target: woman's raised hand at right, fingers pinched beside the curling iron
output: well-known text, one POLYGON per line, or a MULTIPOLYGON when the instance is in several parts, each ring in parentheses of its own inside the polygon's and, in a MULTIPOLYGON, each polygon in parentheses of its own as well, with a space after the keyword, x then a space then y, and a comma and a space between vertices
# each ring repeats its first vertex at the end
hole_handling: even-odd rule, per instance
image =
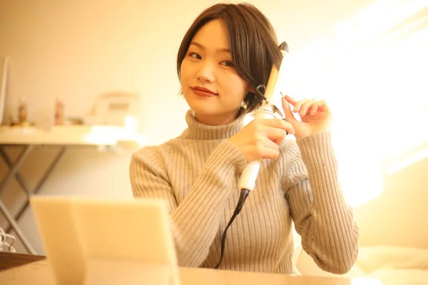
POLYGON ((325 100, 304 99, 295 100, 289 95, 282 98, 282 108, 284 108, 285 119, 295 129, 296 138, 304 138, 315 133, 325 133, 332 125, 332 113, 325 103, 325 100), (293 106, 291 110, 290 105, 293 106), (297 120, 294 113, 299 113, 300 120, 297 120))

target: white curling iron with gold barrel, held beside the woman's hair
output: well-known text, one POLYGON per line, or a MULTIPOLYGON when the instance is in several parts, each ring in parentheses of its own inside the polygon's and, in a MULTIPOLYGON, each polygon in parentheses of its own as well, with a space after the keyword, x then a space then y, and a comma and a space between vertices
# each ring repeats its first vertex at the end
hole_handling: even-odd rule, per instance
MULTIPOLYGON (((278 70, 275 67, 275 64, 272 65, 272 71, 270 71, 269 81, 267 81, 267 86, 265 88, 265 98, 263 100, 262 106, 255 112, 255 119, 284 118, 280 109, 274 103, 272 103, 273 101, 275 101, 275 99, 282 97, 282 95, 280 94, 280 80, 278 79, 281 78, 281 73, 283 72, 285 66, 283 58, 288 54, 288 46, 285 41, 280 44, 280 50, 282 53, 280 69, 278 70)), ((278 100, 276 101, 278 102, 278 100)), ((261 162, 262 160, 255 160, 253 162, 248 163, 248 165, 245 167, 240 176, 240 190, 254 190, 255 181, 257 180, 258 173, 260 171, 261 162)))

